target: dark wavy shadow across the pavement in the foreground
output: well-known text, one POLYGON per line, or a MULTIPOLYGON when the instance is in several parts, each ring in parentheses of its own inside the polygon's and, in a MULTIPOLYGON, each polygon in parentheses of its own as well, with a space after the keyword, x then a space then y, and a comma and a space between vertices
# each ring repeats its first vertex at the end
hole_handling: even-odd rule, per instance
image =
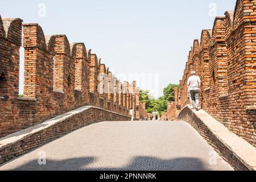
MULTIPOLYGON (((38 160, 13 168, 15 171, 207 171, 200 159, 176 158, 161 160, 147 156, 136 156, 130 164, 119 168, 87 167, 96 162, 96 158, 72 158, 67 160, 47 160, 46 165, 39 165, 38 160)), ((109 162, 113 164, 114 162, 109 162)), ((93 166, 93 165, 92 165, 93 166)))

